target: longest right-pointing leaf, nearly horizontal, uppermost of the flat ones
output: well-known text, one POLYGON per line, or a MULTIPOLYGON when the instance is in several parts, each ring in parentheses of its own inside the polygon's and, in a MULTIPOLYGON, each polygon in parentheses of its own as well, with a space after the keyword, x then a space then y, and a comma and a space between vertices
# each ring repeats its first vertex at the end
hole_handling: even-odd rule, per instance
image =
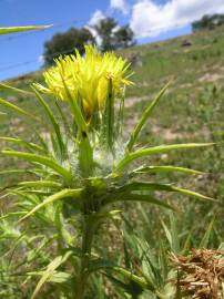
POLYGON ((123 169, 132 162, 141 157, 151 156, 155 154, 167 153, 175 150, 191 150, 197 147, 205 147, 214 145, 214 143, 186 143, 186 144, 172 144, 160 145, 149 148, 139 150, 136 152, 126 154, 123 159, 120 161, 114 172, 123 172, 123 169))

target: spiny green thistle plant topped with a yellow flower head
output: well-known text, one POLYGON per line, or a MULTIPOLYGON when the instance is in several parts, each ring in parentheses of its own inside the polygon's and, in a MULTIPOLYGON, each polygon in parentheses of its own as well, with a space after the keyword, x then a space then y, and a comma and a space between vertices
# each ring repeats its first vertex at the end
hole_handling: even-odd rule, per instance
MULTIPOLYGON (((147 202, 173 209, 164 199, 156 198, 157 192, 207 198, 171 184, 141 179, 142 174, 160 172, 198 174, 184 167, 151 165, 144 158, 210 144, 138 146, 140 134, 169 84, 149 103, 130 137, 124 140, 124 95, 125 89, 133 84, 131 74, 126 60, 114 53, 101 54, 94 47, 86 45, 84 56, 75 51, 73 55, 55 60, 55 65, 43 73, 45 84, 33 84, 30 92, 3 85, 12 92, 34 94, 48 122, 43 126, 41 115, 0 99, 2 106, 24 118, 29 124, 27 130, 33 122, 40 122, 41 128, 34 132, 33 142, 14 136, 0 137, 9 144, 1 151, 3 158, 28 163, 22 171, 24 177, 20 176, 21 181, 19 177, 17 184, 3 189, 4 196, 14 198, 16 209, 3 217, 19 217, 18 229, 29 231, 32 227, 28 234, 35 231, 42 240, 51 235, 49 248, 57 251, 51 260, 49 255, 48 259, 44 255, 41 257, 39 272, 24 274, 29 278, 41 276, 32 299, 38 298, 42 286, 50 281, 61 283, 62 293, 63 286, 69 283, 65 298, 84 298, 90 276, 102 269, 136 279, 151 289, 144 277, 135 277, 98 256, 94 237, 100 224, 118 217, 122 213, 122 202, 147 202), (54 107, 47 97, 53 99, 54 107)), ((21 173, 21 169, 4 169, 3 173, 21 173)))

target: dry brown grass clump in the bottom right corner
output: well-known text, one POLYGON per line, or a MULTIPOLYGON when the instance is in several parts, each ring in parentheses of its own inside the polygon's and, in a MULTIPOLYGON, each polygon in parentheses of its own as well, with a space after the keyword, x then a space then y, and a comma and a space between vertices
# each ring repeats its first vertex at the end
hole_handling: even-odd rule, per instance
POLYGON ((174 282, 184 295, 192 299, 224 298, 224 250, 192 249, 187 257, 172 254, 171 260, 180 272, 174 282))

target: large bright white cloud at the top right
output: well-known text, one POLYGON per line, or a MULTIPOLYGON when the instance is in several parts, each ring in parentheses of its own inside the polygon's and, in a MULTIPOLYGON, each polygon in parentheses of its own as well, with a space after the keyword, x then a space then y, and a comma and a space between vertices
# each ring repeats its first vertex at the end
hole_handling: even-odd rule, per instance
POLYGON ((130 25, 138 38, 155 37, 190 24, 204 14, 223 12, 223 0, 170 0, 164 4, 139 0, 133 4, 130 25))

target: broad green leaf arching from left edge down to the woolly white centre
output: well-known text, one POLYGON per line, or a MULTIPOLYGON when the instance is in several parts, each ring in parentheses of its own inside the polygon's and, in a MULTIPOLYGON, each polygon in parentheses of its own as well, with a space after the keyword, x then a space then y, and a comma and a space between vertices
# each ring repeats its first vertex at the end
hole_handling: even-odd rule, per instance
POLYGON ((71 172, 63 168, 53 158, 45 157, 42 155, 35 155, 31 153, 17 152, 17 151, 1 151, 1 154, 6 156, 22 158, 30 163, 39 163, 41 165, 48 166, 49 168, 53 169, 55 173, 62 175, 65 181, 68 182, 72 181, 71 172))

